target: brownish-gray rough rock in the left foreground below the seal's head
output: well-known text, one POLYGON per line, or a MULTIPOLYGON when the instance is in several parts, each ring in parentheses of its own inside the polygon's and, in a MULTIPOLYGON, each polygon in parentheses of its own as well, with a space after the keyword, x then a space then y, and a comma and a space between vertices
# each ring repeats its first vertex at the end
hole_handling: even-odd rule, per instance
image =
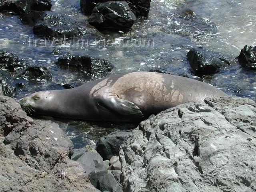
POLYGON ((18 102, 0 96, 0 189, 98 192, 59 126, 26 116, 18 102))

